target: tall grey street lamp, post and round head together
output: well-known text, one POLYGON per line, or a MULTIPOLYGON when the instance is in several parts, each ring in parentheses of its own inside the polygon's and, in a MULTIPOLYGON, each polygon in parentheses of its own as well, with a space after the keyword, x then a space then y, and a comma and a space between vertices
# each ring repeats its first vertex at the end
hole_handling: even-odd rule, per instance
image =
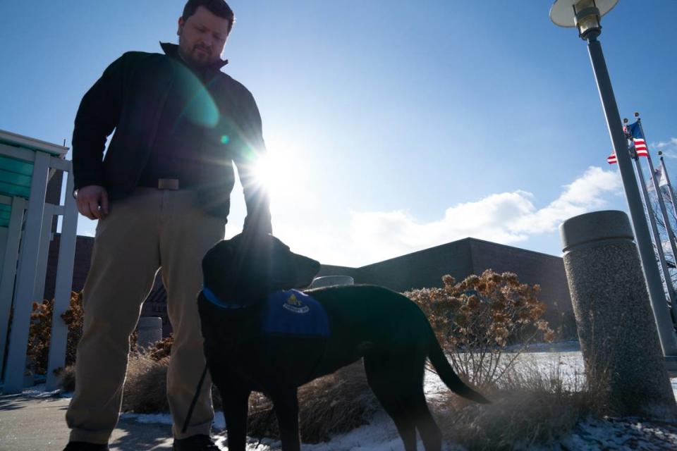
POLYGON ((606 117, 606 126, 609 128, 611 143, 614 146, 614 152, 616 152, 618 169, 621 171, 621 180, 623 180, 630 218, 635 231, 635 242, 647 281, 649 299, 651 299, 661 347, 664 356, 675 357, 677 356, 677 338, 670 319, 661 276, 658 272, 656 256, 644 216, 644 206, 642 206, 642 199, 640 198, 640 190, 633 171, 633 163, 628 153, 628 143, 621 125, 621 116, 618 114, 614 90, 611 88, 609 71, 606 69, 602 45, 597 40, 602 32, 600 19, 604 14, 611 11, 611 8, 614 8, 617 3, 618 0, 556 0, 550 9, 550 18, 555 25, 577 27, 580 38, 588 43, 590 62, 592 63, 594 78, 597 81, 599 98, 602 101, 604 116, 606 117))

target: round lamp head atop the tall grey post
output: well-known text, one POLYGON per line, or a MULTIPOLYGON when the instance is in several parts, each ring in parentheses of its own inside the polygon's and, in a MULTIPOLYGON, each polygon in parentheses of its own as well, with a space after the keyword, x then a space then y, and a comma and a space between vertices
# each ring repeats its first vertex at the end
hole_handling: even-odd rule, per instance
POLYGON ((577 27, 581 39, 599 36, 601 19, 618 0, 556 0, 550 8, 550 20, 560 27, 577 27))

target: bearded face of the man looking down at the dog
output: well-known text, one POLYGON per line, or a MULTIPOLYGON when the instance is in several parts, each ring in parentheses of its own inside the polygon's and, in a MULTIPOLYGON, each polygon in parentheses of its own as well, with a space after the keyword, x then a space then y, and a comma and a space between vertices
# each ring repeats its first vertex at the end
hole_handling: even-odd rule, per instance
POLYGON ((186 63, 209 66, 221 59, 228 37, 228 19, 198 6, 188 20, 178 19, 178 51, 186 63))

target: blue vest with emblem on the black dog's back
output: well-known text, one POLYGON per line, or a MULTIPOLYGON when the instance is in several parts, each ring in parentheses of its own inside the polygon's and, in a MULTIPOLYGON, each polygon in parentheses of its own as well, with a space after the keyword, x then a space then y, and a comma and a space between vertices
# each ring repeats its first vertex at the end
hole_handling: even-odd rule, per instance
POLYGON ((263 309, 262 333, 329 336, 327 312, 317 300, 298 290, 269 295, 263 309))

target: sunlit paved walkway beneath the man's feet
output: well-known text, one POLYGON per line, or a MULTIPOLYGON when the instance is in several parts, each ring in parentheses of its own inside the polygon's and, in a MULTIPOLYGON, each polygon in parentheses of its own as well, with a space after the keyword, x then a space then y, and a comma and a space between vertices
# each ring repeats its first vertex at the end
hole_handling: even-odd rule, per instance
MULTIPOLYGON (((54 396, 0 395, 0 451, 63 450, 68 443, 65 416, 70 401, 54 396)), ((171 443, 170 426, 123 418, 113 432, 110 448, 160 451, 171 450, 171 443)))

